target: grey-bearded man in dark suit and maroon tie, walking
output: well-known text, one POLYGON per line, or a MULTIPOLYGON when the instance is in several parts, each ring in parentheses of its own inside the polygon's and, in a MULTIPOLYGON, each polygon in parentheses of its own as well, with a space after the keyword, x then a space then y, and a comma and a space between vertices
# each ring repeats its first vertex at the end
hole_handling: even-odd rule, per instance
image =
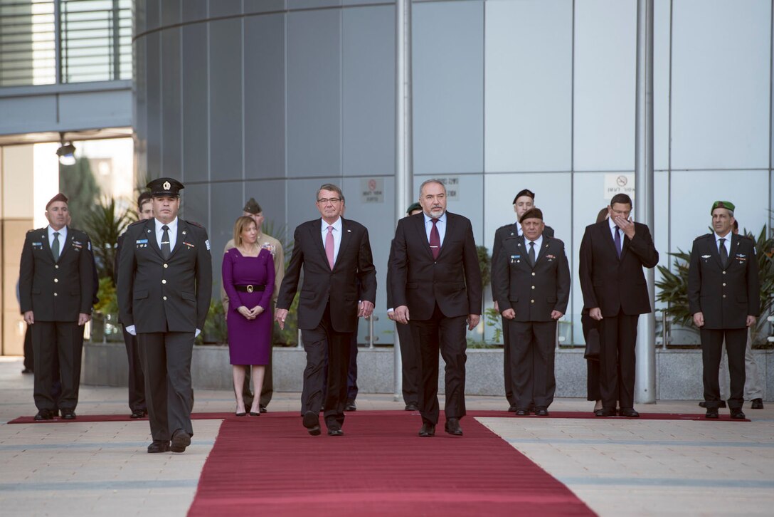
POLYGON ((437 180, 420 187, 423 213, 398 222, 389 263, 396 321, 410 321, 420 346, 420 436, 438 422, 438 351, 446 362, 447 433, 461 436, 465 415, 465 322, 481 319, 481 270, 469 219, 446 211, 446 188, 437 180))

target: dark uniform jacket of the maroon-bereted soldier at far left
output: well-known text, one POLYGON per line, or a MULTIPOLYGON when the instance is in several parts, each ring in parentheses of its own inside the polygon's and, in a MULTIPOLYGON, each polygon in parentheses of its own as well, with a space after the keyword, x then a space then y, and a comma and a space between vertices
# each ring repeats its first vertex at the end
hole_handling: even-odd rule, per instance
POLYGON ((94 259, 85 232, 67 227, 67 239, 53 261, 48 226, 27 232, 19 267, 22 313, 33 311, 36 321, 77 322, 91 314, 94 297, 94 259))

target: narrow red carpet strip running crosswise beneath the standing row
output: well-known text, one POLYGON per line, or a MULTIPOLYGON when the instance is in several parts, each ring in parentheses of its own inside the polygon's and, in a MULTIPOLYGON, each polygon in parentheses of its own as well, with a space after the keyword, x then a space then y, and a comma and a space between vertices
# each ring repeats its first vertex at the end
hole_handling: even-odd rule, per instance
MULTIPOLYGON (((704 411, 704 410, 702 410, 704 411)), ((399 411, 396 411, 399 412, 399 411)), ((358 415, 362 414, 372 415, 375 412, 358 412, 358 415)), ((387 412, 392 413, 392 412, 387 412)), ((402 413, 402 412, 399 412, 402 413)), ((287 413, 267 413, 267 415, 285 415, 287 413)), ((296 413, 293 413, 296 414, 296 413)), ((348 413, 349 415, 350 413, 348 413)), ((409 413, 410 414, 410 413, 409 413)), ((468 411, 468 416, 486 416, 486 417, 500 417, 500 418, 518 418, 518 419, 597 419, 590 411, 552 411, 550 416, 515 416, 513 413, 505 411, 468 411)), ((264 415, 265 416, 265 415, 264 415)), ((217 419, 237 419, 234 413, 193 413, 191 418, 194 420, 217 420, 217 419)), ((248 418, 248 417, 243 417, 248 418)), ((611 417, 615 420, 637 420, 627 419, 624 416, 611 417)), ((51 423, 70 423, 70 422, 129 422, 133 419, 129 418, 129 415, 83 415, 78 414, 78 418, 75 420, 63 420, 61 417, 57 417, 53 420, 41 420, 37 421, 33 419, 33 416, 20 416, 18 419, 13 419, 9 424, 51 424, 51 423)), ((137 419, 140 422, 147 421, 148 418, 137 419)), ((241 419, 239 419, 241 420, 241 419)), ((600 422, 604 422, 603 419, 598 419, 600 422)), ((701 413, 640 413, 639 420, 696 420, 697 422, 750 422, 749 419, 745 420, 731 420, 731 415, 728 412, 722 412, 720 418, 717 420, 708 420, 704 418, 704 412, 701 413)), ((421 425, 421 424, 420 424, 421 425)))

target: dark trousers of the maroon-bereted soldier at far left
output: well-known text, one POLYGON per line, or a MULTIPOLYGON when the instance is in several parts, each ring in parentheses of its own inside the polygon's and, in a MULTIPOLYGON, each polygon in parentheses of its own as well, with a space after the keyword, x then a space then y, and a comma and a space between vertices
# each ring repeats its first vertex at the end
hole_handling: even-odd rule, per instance
POLYGON ((78 405, 84 327, 77 322, 37 321, 32 328, 36 407, 54 411, 58 404, 60 409, 74 410, 78 405), (57 373, 62 385, 58 402, 53 395, 57 373))

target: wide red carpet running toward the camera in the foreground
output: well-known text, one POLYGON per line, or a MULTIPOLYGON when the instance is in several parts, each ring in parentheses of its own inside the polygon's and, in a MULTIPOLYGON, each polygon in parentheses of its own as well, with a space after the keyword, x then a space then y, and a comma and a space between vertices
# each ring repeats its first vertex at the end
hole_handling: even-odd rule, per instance
MULTIPOLYGON (((500 413, 500 412, 498 412, 500 413)), ((298 415, 226 419, 189 515, 594 515, 472 418, 465 436, 416 436, 408 412, 349 413, 344 436, 298 415)))

